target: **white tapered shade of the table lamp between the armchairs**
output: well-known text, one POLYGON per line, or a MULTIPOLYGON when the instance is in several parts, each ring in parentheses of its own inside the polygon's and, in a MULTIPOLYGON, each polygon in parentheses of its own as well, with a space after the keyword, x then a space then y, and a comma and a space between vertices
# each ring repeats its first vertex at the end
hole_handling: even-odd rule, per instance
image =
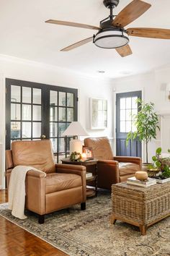
POLYGON ((89 136, 79 121, 72 121, 69 127, 63 132, 63 136, 89 136))

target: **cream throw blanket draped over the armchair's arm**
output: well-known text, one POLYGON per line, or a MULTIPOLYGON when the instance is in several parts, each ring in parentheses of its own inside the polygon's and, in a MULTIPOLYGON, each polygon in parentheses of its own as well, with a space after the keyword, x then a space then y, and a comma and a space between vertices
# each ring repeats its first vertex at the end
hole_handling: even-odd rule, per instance
MULTIPOLYGON (((14 217, 24 219, 25 202, 25 177, 27 171, 40 171, 31 166, 16 166, 13 168, 9 179, 9 210, 14 217)), ((40 171, 42 172, 42 171, 40 171)), ((44 174, 44 172, 42 172, 44 174)))

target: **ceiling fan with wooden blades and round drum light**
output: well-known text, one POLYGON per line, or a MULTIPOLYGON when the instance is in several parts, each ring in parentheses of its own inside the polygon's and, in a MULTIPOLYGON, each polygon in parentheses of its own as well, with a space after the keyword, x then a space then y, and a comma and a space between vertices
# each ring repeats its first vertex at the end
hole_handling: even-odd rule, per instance
POLYGON ((142 38, 161 38, 170 39, 170 30, 150 27, 133 27, 125 29, 125 26, 138 19, 144 12, 146 12, 151 4, 145 1, 133 0, 122 11, 114 15, 113 9, 117 7, 120 0, 104 0, 103 4, 109 8, 109 17, 100 22, 99 27, 93 25, 86 25, 75 22, 66 22, 61 20, 47 20, 45 22, 65 25, 71 27, 82 27, 91 30, 99 30, 96 35, 86 38, 71 46, 61 49, 61 51, 70 51, 73 48, 83 46, 85 43, 93 41, 93 43, 100 48, 115 48, 120 56, 125 57, 132 54, 129 43, 129 35, 142 38))

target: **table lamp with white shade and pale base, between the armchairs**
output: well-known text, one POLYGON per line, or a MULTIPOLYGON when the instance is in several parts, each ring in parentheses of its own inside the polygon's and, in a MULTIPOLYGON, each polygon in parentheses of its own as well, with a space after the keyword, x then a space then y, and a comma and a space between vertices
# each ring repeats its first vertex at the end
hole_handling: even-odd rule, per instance
POLYGON ((78 136, 89 136, 79 121, 72 121, 69 127, 63 132, 63 136, 73 136, 70 141, 70 154, 72 152, 82 153, 82 143, 78 140, 78 136))

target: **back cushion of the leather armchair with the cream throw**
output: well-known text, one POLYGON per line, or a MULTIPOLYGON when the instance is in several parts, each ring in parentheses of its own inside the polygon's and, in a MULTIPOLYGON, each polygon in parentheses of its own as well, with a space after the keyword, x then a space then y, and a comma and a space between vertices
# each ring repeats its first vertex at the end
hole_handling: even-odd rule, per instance
POLYGON ((32 166, 45 173, 55 172, 50 140, 18 140, 12 142, 14 166, 32 166))

